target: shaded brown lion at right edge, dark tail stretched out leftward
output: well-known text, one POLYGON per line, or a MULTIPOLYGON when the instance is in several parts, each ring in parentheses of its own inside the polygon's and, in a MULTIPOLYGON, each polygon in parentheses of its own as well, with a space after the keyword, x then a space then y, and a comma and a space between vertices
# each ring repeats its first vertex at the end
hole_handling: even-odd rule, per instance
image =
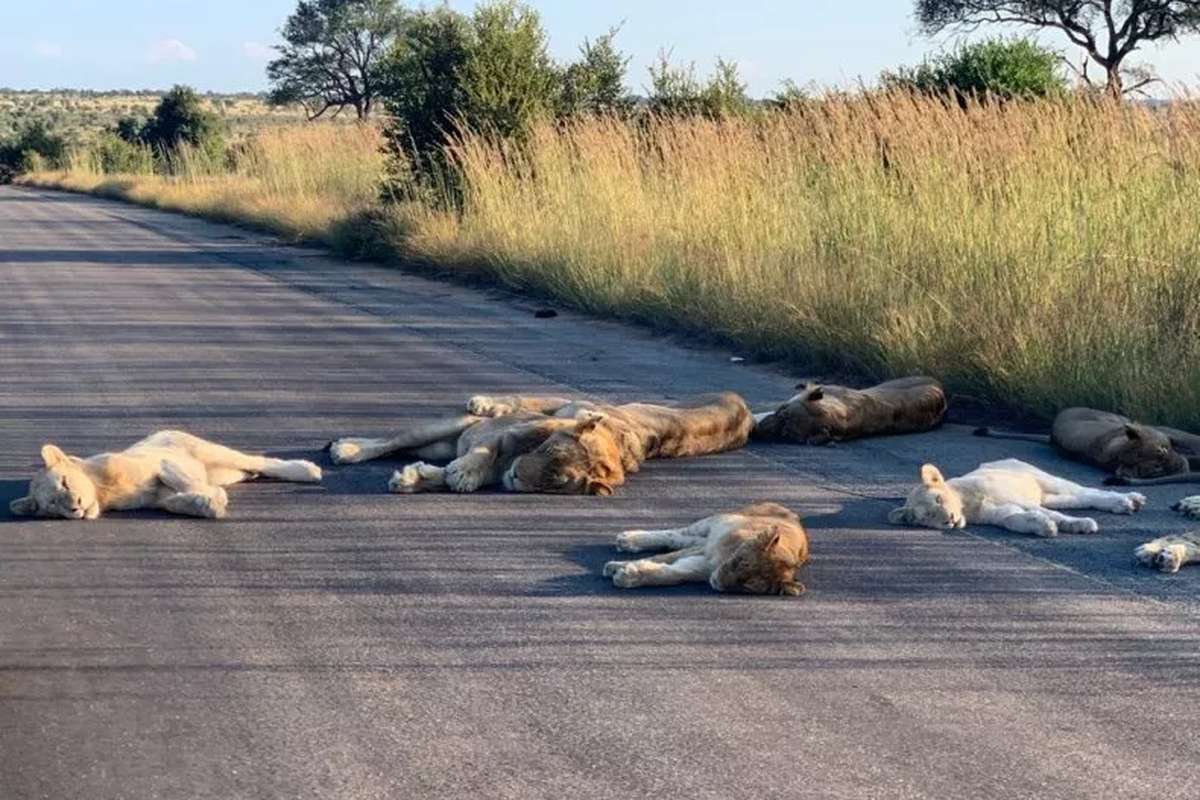
POLYGON ((1068 458, 1112 474, 1110 483, 1148 486, 1200 482, 1200 437, 1163 426, 1141 425, 1127 416, 1091 408, 1058 413, 1050 435, 997 433, 976 435, 1049 441, 1068 458), (1196 458, 1195 463, 1190 459, 1196 458))

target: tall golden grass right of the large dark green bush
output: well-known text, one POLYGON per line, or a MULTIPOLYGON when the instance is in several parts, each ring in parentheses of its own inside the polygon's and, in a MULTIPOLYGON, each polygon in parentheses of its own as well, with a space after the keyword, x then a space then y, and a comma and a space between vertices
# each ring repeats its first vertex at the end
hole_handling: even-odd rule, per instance
POLYGON ((1193 104, 832 100, 456 155, 426 257, 821 368, 1200 425, 1193 104))

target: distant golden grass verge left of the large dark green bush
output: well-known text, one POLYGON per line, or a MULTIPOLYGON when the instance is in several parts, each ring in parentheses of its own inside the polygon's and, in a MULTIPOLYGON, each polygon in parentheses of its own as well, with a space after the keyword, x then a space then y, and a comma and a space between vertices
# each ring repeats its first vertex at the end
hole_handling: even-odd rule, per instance
POLYGON ((220 161, 184 148, 170 155, 167 174, 155 174, 146 160, 140 174, 108 175, 95 152, 80 150, 67 170, 36 173, 25 182, 329 241, 348 219, 376 205, 380 144, 379 131, 368 126, 281 127, 246 139, 220 161))

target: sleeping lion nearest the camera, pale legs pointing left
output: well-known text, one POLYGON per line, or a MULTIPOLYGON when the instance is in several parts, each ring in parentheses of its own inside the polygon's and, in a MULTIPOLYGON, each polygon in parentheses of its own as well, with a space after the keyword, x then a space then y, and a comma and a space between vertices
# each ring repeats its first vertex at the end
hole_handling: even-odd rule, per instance
POLYGON ((622 589, 708 584, 716 591, 800 595, 796 571, 809 560, 809 537, 798 515, 778 503, 757 503, 684 528, 626 530, 617 549, 670 549, 636 561, 608 561, 605 577, 622 589))

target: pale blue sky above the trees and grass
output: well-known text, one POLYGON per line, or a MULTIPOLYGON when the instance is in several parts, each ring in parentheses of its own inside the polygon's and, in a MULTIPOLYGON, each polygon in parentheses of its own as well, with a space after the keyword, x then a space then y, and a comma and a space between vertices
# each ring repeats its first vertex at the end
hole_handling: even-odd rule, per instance
MULTIPOLYGON (((295 0, 56 0, 5 2, 0 86, 150 88, 257 91, 277 31, 295 0)), ((470 0, 451 5, 469 11, 470 0)), ((624 23, 618 44, 634 56, 629 84, 646 85, 660 48, 707 72, 718 55, 737 61, 751 94, 799 84, 848 85, 919 61, 952 40, 930 42, 910 0, 533 0, 556 58, 584 37, 624 23)), ((1055 37, 1048 43, 1060 46, 1055 37)), ((1200 37, 1135 54, 1171 82, 1200 86, 1200 37)), ((1094 73, 1093 73, 1094 74, 1094 73)))

